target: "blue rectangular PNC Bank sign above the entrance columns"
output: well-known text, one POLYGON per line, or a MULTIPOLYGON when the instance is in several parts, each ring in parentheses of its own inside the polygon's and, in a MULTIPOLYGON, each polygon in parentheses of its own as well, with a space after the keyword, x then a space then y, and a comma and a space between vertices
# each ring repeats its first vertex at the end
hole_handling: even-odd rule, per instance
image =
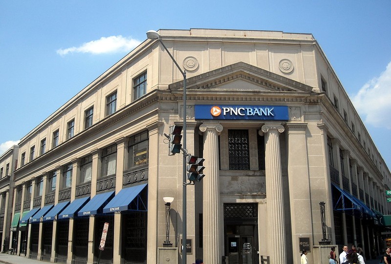
POLYGON ((279 105, 195 105, 195 119, 289 120, 288 106, 279 105))

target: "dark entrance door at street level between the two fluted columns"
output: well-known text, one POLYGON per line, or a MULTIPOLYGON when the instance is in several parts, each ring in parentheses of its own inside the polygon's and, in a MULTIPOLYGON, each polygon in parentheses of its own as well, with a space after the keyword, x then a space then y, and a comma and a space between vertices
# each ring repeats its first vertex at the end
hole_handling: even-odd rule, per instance
POLYGON ((229 235, 227 247, 229 264, 253 264, 252 236, 229 235))

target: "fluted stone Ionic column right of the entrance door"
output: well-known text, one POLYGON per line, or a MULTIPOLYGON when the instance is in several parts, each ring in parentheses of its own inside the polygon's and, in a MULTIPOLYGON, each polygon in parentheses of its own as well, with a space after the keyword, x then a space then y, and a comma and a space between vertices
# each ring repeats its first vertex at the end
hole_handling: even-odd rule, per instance
POLYGON ((265 123, 265 173, 266 173, 266 210, 267 241, 270 263, 286 264, 286 255, 282 248, 285 244, 285 224, 282 201, 282 168, 280 153, 280 133, 284 127, 279 123, 265 123))

